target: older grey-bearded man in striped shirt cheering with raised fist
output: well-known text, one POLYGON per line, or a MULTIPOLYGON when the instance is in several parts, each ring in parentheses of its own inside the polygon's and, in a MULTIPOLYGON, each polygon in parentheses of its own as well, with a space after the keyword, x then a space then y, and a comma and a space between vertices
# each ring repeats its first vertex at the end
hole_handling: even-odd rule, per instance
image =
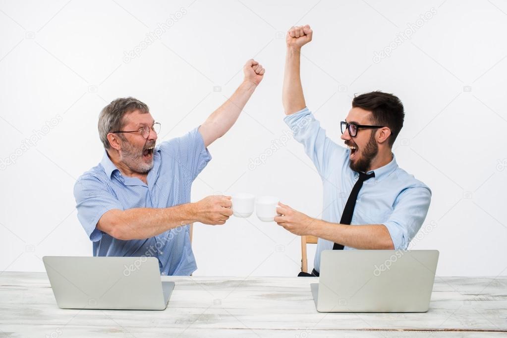
POLYGON ((146 104, 119 98, 102 109, 102 161, 74 188, 94 256, 157 257, 163 275, 197 269, 188 224, 224 224, 232 215, 231 198, 208 196, 190 203, 190 190, 211 159, 207 146, 236 122, 265 70, 249 60, 243 72, 243 83, 202 125, 159 146, 160 124, 146 104))

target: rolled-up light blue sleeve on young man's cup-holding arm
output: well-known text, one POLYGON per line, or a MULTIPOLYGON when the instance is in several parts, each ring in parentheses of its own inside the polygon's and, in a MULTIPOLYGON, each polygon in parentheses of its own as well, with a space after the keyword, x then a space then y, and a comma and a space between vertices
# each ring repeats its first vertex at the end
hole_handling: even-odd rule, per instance
POLYGON ((383 224, 395 250, 406 250, 428 213, 431 191, 427 187, 405 189, 396 199, 394 210, 383 224))

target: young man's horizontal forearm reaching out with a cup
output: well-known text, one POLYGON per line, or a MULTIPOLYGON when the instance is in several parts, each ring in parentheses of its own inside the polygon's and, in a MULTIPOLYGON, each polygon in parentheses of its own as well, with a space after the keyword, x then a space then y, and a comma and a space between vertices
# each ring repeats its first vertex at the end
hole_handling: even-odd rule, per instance
POLYGON ((310 235, 355 249, 394 249, 389 231, 383 224, 349 226, 314 219, 310 235))

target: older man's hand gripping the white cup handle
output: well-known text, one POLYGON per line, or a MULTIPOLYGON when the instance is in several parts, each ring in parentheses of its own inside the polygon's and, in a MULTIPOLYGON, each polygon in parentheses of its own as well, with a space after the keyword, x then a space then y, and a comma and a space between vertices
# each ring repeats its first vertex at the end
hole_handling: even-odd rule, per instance
POLYGON ((232 215, 230 196, 208 196, 195 203, 196 219, 204 224, 224 224, 232 215))

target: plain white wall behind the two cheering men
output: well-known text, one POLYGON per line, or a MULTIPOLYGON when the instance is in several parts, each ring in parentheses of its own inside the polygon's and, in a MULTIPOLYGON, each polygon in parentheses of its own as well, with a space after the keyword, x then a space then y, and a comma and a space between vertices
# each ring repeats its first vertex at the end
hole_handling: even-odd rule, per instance
MULTIPOLYGON (((379 89, 405 104, 394 153, 433 191, 412 248, 439 249, 441 276, 507 275, 507 3, 499 0, 1 2, 0 271, 43 271, 44 255, 91 255, 73 185, 101 159, 105 104, 135 96, 161 122, 160 140, 179 136, 235 90, 251 57, 265 79, 209 147, 213 160, 192 198, 277 195, 318 217, 320 179, 296 141, 248 169, 288 131, 284 35, 306 23, 314 40, 303 51, 305 96, 330 137, 341 143, 338 123, 354 93, 379 89), (182 8, 160 39, 124 58, 182 8), (406 29, 411 38, 396 42, 406 29)), ((299 237, 255 216, 196 224, 194 251, 195 275, 294 276, 301 259, 299 237)))

